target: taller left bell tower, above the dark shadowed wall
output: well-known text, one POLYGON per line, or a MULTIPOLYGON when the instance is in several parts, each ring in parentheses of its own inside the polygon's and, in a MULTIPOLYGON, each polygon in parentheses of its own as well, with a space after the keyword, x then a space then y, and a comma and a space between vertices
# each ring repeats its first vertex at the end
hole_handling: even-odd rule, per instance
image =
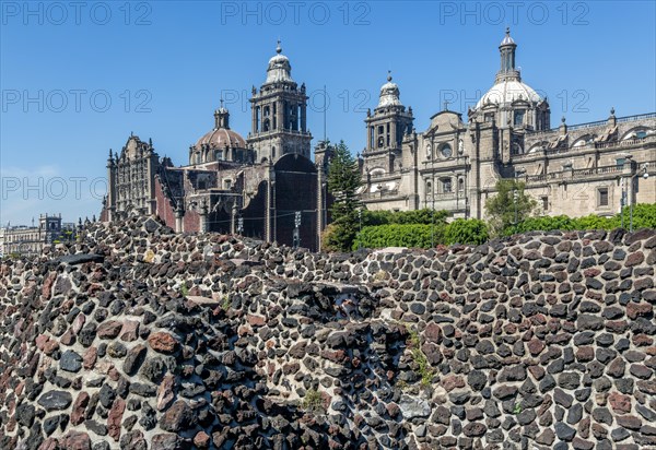
POLYGON ((312 134, 307 130, 307 95, 292 79, 292 66, 282 55, 280 40, 269 60, 267 80, 259 92, 253 86, 251 129, 247 143, 257 163, 276 163, 288 153, 309 158, 312 134))

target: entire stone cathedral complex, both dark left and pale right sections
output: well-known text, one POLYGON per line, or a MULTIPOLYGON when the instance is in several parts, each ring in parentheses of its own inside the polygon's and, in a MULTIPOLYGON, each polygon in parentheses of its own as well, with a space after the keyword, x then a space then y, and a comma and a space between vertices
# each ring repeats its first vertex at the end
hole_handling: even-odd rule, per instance
MULTIPOLYGON (((378 105, 367 111, 359 155, 368 210, 446 210, 452 218, 485 218, 496 182, 526 183, 543 215, 613 215, 622 205, 656 203, 656 112, 551 128, 547 98, 522 79, 517 44, 506 31, 492 87, 462 114, 445 107, 426 130, 414 128, 399 86, 388 74, 378 105)), ((177 232, 241 234, 320 248, 330 204, 326 174, 331 149, 311 155, 305 84, 292 79, 280 43, 259 91, 253 87, 251 128, 230 127, 223 103, 213 127, 175 166, 152 142, 130 135, 109 152, 108 192, 101 218, 155 214, 177 232)))

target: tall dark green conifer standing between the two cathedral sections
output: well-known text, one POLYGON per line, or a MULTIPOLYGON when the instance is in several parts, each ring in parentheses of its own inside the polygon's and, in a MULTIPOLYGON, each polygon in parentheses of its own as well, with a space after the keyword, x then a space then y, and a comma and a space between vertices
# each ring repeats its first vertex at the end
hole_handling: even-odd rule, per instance
POLYGON ((326 247, 342 251, 351 249, 359 229, 361 203, 355 191, 361 185, 358 162, 344 141, 340 141, 328 166, 328 191, 335 201, 330 208, 333 229, 327 236, 326 247))

